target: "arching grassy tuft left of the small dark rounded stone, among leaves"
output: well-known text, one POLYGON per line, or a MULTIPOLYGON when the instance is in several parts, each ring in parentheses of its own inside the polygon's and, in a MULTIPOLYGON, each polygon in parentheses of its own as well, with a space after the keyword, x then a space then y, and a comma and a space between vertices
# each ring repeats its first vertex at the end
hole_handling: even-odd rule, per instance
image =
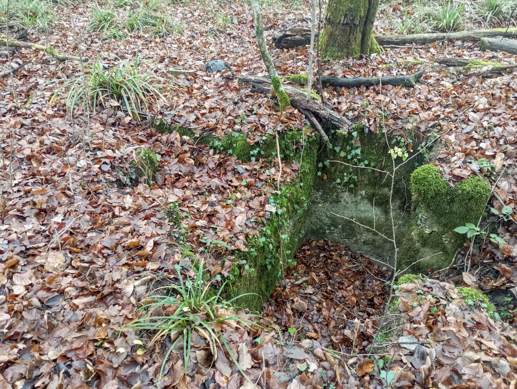
POLYGON ((150 101, 158 103, 159 99, 165 100, 158 90, 162 79, 150 72, 140 73, 140 65, 138 56, 133 63, 122 61, 109 69, 96 60, 93 65, 85 65, 86 85, 82 77, 68 80, 54 92, 49 105, 56 96, 65 97, 67 109, 72 115, 74 107, 82 99, 86 99, 92 110, 98 103, 107 106, 108 101, 114 99, 126 106, 129 115, 134 113, 140 119, 139 108, 148 108, 150 101), (63 93, 64 89, 68 89, 68 92, 63 93))

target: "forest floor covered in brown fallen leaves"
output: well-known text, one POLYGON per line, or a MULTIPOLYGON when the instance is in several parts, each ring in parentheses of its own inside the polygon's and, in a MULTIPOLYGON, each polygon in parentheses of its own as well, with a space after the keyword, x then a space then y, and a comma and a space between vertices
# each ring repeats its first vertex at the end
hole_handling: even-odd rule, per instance
MULTIPOLYGON (((120 110, 123 101, 112 96, 89 106, 80 90, 84 74, 111 71, 124 82, 162 84, 159 96, 152 90, 146 96, 153 115, 196 135, 208 131, 221 139, 238 131, 250 145, 274 130, 301 128, 307 121, 297 110, 279 113, 270 97, 238 85, 238 75, 267 75, 250 5, 34 0, 12 1, 7 13, 8 4, 0 4, 2 37, 8 30, 9 38, 51 45, 87 62, 61 63, 31 49, 0 55, 2 73, 25 64, 0 81, 0 388, 515 387, 512 298, 496 307, 481 292, 456 286, 493 292, 517 281, 511 221, 517 220, 517 68, 482 78, 425 62, 461 57, 514 65, 515 55, 452 41, 322 64, 322 74, 341 77, 424 70, 415 88, 329 87, 323 95, 368 131, 399 136, 405 149, 412 147, 406 132, 440 134, 437 168, 451 186, 480 175, 494 188, 500 200, 491 198, 495 212, 486 223, 499 223, 497 235, 506 244, 487 240, 476 247, 468 272, 461 271, 465 246, 456 267, 391 285, 391 272, 370 259, 331 242, 306 242, 262 318, 214 307, 220 319, 208 328, 220 334, 218 342, 209 329, 185 326, 190 352, 184 361, 183 348, 165 356, 179 334, 153 343, 127 324, 139 317, 151 291, 195 277, 194 254, 178 244, 180 227, 189 229, 191 251, 205 249, 197 260, 214 285, 231 276, 234 263, 221 261, 223 254, 245 249, 256 221, 271 217, 278 161, 242 163, 217 142, 200 145, 175 131, 156 131, 145 115, 139 120, 120 110), (215 58, 230 69, 205 72, 215 58), (171 75, 178 69, 192 72, 171 75), (153 182, 135 173, 142 155, 156 157, 153 182), (178 209, 169 207, 178 202, 178 209)), ((271 26, 268 44, 273 34, 309 25, 306 3, 262 6, 263 24, 271 26)), ((424 8, 383 3, 374 32, 437 28, 436 7, 424 8)), ((486 12, 469 8, 462 28, 506 26, 508 9, 505 3, 503 13, 483 18, 486 12)), ((279 51, 271 45, 270 51, 280 75, 307 73, 306 46, 279 51)), ((137 108, 146 112, 142 104, 137 108)), ((280 181, 299 169, 284 162, 280 181)), ((244 263, 239 266, 244 271, 244 263)), ((160 312, 173 315, 167 308, 160 312)))

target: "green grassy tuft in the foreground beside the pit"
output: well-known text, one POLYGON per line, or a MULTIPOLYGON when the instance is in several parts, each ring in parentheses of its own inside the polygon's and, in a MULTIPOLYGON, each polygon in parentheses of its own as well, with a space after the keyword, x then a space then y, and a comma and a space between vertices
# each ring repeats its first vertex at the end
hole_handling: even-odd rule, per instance
POLYGON ((153 302, 141 308, 142 316, 128 324, 129 328, 136 331, 155 332, 150 341, 151 345, 168 335, 171 337, 172 345, 163 359, 158 376, 158 387, 160 387, 160 379, 163 375, 165 364, 175 348, 183 348, 184 374, 187 374, 193 332, 207 339, 214 359, 217 355, 217 348, 223 349, 224 347, 237 365, 237 368, 244 375, 221 331, 214 330, 212 324, 224 323, 227 320, 237 320, 240 325, 256 325, 263 328, 260 324, 251 321, 254 318, 260 318, 260 316, 249 313, 237 314, 235 313, 235 307, 230 305, 236 299, 254 293, 241 294, 230 301, 219 303, 218 300, 221 297, 221 291, 225 283, 219 288, 217 294, 212 293, 209 289, 210 284, 204 285, 203 282, 203 261, 200 262, 195 278, 187 277, 185 282, 183 276, 181 276, 181 267, 176 265, 174 268, 178 272, 179 285, 159 288, 169 290, 168 294, 170 295, 153 295, 151 297, 153 302), (212 296, 210 297, 210 295, 212 296), (183 344, 183 347, 180 346, 181 344, 183 344))

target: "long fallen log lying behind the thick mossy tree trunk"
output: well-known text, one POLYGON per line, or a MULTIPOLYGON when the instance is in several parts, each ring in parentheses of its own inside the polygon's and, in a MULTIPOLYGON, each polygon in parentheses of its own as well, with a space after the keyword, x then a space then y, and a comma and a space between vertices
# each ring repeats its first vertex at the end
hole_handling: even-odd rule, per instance
MULTIPOLYGON (((391 35, 375 35, 375 40, 381 46, 386 45, 397 45, 404 46, 406 44, 428 44, 438 41, 445 40, 470 40, 470 41, 479 41, 483 38, 487 40, 489 38, 500 37, 504 34, 505 28, 484 28, 472 31, 459 31, 456 33, 433 33, 433 34, 413 34, 413 35, 400 35, 400 34, 391 34, 391 35)), ((310 29, 307 28, 291 28, 284 33, 277 34, 273 37, 273 42, 275 43, 275 47, 277 49, 293 49, 295 47, 310 44, 311 39, 310 29)), ((509 28, 507 37, 515 37, 517 36, 517 28, 509 28)), ((500 40, 500 38, 499 38, 500 40)), ((511 39, 509 39, 511 40, 511 39)), ((491 42, 490 44, 494 45, 495 42, 491 42)), ((492 50, 488 48, 489 50, 492 50)), ((498 49, 496 50, 504 50, 498 49)), ((505 50, 506 51, 506 50, 505 50)), ((509 53, 509 51, 508 51, 509 53)))

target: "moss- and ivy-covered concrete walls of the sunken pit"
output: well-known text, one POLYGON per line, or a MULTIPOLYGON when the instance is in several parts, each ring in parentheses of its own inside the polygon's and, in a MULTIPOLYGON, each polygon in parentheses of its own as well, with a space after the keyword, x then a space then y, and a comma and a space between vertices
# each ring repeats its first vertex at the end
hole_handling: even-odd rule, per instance
MULTIPOLYGON (((246 137, 237 132, 222 139, 214 135, 196 137, 191 130, 170 127, 163 119, 155 121, 155 128, 177 131, 218 152, 231 153, 243 162, 275 158, 277 154, 272 135, 249 145, 246 137)), ((385 134, 365 134, 361 125, 348 133, 332 130, 332 150, 320 147, 316 135, 306 136, 303 158, 293 146, 300 140, 300 129, 280 136, 282 160, 301 160, 301 168, 299 177, 285 182, 280 194, 270 196, 278 214, 272 215, 260 233, 248 240, 246 251, 232 253, 235 260, 226 293, 254 293, 240 299, 242 306, 258 309, 267 301, 283 269, 293 266, 294 254, 306 239, 344 243, 355 252, 392 264, 390 198, 398 269, 408 267, 407 272, 427 274, 429 267, 446 267, 465 241, 464 235, 453 229, 465 223, 477 224, 490 196, 489 186, 477 177, 451 188, 429 163, 429 152, 422 152, 397 168, 390 196, 391 177, 379 170, 392 172, 390 148, 403 147, 407 139, 388 136, 387 143, 385 134)), ((425 140, 412 140, 414 152, 425 146, 422 142, 425 140)), ((400 157, 395 161, 396 165, 403 162, 400 157)))

